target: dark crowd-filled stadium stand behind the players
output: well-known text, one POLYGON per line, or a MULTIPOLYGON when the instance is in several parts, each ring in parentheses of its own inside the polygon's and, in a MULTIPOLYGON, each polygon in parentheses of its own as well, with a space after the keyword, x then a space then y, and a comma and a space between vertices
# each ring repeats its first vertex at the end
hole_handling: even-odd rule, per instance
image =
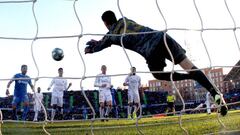
MULTIPOLYGON (((91 104, 93 105, 96 111, 96 117, 98 118, 99 114, 99 104, 98 104, 98 91, 97 90, 86 90, 87 97, 89 98, 91 104)), ((112 94, 114 95, 114 104, 111 111, 111 116, 113 118, 126 118, 127 113, 127 90, 121 89, 112 89, 112 94)), ((51 93, 43 93, 43 104, 47 109, 48 118, 50 118, 51 113, 51 93)), ((166 96, 167 92, 164 91, 144 91, 141 95, 141 104, 143 109, 143 115, 154 115, 164 113, 166 110, 166 96)), ((11 119, 11 101, 12 96, 0 98, 0 107, 3 111, 3 119, 11 119)), ((229 93, 225 93, 224 98, 226 102, 236 102, 240 101, 240 89, 231 90, 229 93)), ((30 112, 27 120, 33 120, 34 111, 33 111, 33 98, 29 94, 30 99, 30 112)), ((199 103, 195 101, 186 102, 186 109, 194 108, 199 103)), ((176 103, 176 111, 181 110, 181 103, 176 103)), ((240 109, 239 105, 229 106, 230 109, 240 109)), ((18 115, 21 115, 23 111, 22 105, 19 105, 18 115)), ((188 113, 188 112, 186 112, 188 113)), ((40 114, 39 120, 43 120, 43 113, 40 114)), ((64 120, 76 120, 76 119, 90 119, 92 118, 92 113, 86 100, 83 97, 81 91, 66 91, 64 93, 64 120)))

